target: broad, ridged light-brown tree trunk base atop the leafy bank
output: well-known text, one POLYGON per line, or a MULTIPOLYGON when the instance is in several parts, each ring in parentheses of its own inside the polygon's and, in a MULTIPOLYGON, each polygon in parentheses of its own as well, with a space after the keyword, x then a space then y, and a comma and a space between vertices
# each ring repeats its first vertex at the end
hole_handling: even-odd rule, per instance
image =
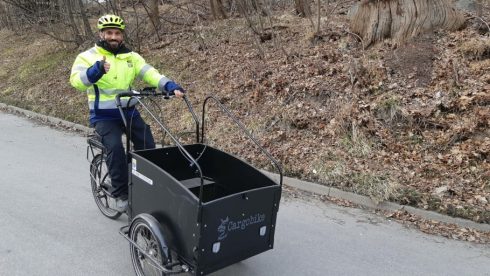
POLYGON ((351 31, 367 47, 386 38, 401 42, 438 28, 463 26, 462 12, 450 0, 363 0, 350 11, 351 31))

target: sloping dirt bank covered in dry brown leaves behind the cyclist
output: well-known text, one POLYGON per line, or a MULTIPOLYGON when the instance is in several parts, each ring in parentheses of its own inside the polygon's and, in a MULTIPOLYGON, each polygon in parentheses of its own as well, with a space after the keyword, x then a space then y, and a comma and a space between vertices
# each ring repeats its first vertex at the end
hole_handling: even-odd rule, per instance
MULTIPOLYGON (((363 50, 347 31, 349 5, 322 19, 319 36, 281 12, 270 39, 231 18, 148 38, 140 53, 184 85, 198 113, 206 95, 220 98, 287 176, 490 223, 488 31, 469 19, 461 31, 363 50)), ((1 102, 87 123, 85 95, 68 83, 84 49, 6 30, 0 49, 1 102)), ((176 132, 192 131, 182 103, 163 110, 176 132)), ((274 171, 216 108, 207 114, 210 144, 274 171)))

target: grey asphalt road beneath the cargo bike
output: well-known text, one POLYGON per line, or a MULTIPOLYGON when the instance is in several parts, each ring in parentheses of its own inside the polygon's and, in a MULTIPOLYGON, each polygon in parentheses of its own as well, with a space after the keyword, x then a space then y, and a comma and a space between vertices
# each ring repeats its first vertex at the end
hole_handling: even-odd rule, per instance
MULTIPOLYGON (((0 112, 0 275, 133 275, 93 202, 85 138, 0 112)), ((285 197, 275 249, 214 275, 490 275, 490 246, 285 197)))

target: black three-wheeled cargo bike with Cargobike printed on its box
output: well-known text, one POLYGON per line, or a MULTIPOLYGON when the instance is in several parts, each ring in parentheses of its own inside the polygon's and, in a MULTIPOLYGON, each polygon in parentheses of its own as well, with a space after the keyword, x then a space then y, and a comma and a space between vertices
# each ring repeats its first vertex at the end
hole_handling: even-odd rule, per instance
MULTIPOLYGON (((168 98, 148 90, 122 93, 116 98, 121 114, 125 106, 137 101, 174 144, 136 151, 126 139, 131 163, 128 225, 120 234, 130 243, 136 274, 206 275, 272 249, 283 178, 279 163, 213 96, 203 103, 203 123, 184 97, 195 122, 196 142, 183 145, 141 101, 159 96, 168 98), (205 144, 204 122, 211 102, 270 159, 279 173, 278 183, 247 162, 205 144)), ((128 126, 128 118, 123 116, 123 121, 128 126)), ((111 208, 112 199, 106 190, 110 176, 104 147, 94 136, 89 137, 88 144, 97 206, 105 216, 118 218, 121 213, 111 208)))

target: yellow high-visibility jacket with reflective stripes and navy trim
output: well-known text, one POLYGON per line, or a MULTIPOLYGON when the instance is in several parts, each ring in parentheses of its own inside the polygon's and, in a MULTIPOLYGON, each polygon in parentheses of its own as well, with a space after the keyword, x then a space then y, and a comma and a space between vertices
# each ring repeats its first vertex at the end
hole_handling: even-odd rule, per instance
MULTIPOLYGON (((70 83, 80 91, 86 91, 88 95, 88 105, 90 109, 90 123, 100 120, 120 119, 121 115, 116 107, 116 95, 127 92, 131 88, 133 81, 142 79, 152 87, 158 87, 165 91, 165 84, 170 81, 165 76, 137 53, 129 49, 123 53, 114 55, 104 48, 95 47, 79 54, 73 63, 70 75, 70 83), (106 57, 111 67, 109 72, 104 74, 96 83, 91 83, 87 78, 87 69, 96 61, 106 57)), ((127 98, 122 98, 122 106, 127 106, 127 98)), ((135 100, 130 102, 133 106, 135 100)))

